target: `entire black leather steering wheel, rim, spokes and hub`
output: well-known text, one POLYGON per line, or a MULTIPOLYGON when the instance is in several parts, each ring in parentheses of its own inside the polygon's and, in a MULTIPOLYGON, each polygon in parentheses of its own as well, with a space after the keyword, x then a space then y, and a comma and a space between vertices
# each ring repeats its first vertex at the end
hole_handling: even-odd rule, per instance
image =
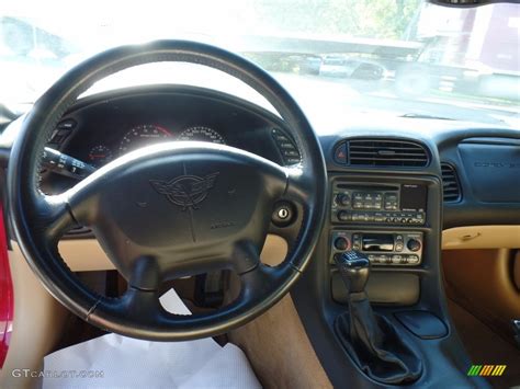
POLYGON ((271 76, 240 56, 186 41, 110 49, 67 72, 25 118, 8 174, 15 237, 49 293, 92 324, 146 340, 212 336, 265 311, 305 270, 325 217, 324 158, 296 102, 271 76), (38 186, 41 157, 67 108, 100 79, 158 61, 208 66, 253 88, 292 130, 302 163, 284 168, 228 146, 168 142, 123 156, 63 194, 45 195, 38 186), (192 188, 189 193, 179 191, 186 185, 192 188), (270 267, 259 256, 273 205, 281 197, 299 203, 302 224, 287 258, 270 267), (226 228, 216 228, 222 220, 226 228), (59 238, 78 225, 94 231, 128 282, 122 297, 93 293, 60 258, 59 238), (218 268, 239 275, 241 290, 235 301, 193 316, 172 314, 161 307, 161 283, 218 268))

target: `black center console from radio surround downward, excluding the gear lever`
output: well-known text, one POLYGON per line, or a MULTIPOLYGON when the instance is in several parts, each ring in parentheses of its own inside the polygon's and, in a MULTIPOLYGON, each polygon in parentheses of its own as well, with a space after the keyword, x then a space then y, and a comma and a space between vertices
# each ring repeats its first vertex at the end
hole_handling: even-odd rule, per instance
MULTIPOLYGON (((434 167, 417 172, 331 172, 329 188, 320 244, 293 298, 331 382, 341 387, 348 377, 352 387, 387 387, 366 374, 360 343, 352 341, 364 330, 352 333, 347 320, 350 310, 357 318, 351 324, 360 325, 359 312, 368 309, 360 311, 352 302, 355 294, 346 287, 338 263, 361 253, 370 263, 364 290, 377 322, 374 327, 373 320, 365 320, 365 330, 395 331, 396 339, 410 346, 422 364, 412 385, 428 385, 433 371, 444 376, 430 385, 466 385, 470 361, 451 328, 442 288, 442 183, 434 167)), ((365 300, 360 304, 368 307, 365 300)), ((371 345, 368 340, 364 347, 371 345)), ((396 344, 383 342, 391 353, 396 344)))

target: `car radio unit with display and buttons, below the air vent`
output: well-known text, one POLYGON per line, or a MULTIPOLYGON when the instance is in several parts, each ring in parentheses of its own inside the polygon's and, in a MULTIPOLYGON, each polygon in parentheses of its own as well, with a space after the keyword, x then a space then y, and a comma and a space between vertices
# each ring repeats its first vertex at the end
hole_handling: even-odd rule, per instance
POLYGON ((332 184, 331 220, 348 224, 426 222, 427 187, 418 184, 332 184))

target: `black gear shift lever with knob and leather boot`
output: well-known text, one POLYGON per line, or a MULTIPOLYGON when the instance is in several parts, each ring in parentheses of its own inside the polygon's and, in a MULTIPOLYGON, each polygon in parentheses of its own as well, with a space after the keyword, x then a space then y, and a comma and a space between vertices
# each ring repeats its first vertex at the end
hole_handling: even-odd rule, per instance
POLYGON ((365 293, 370 261, 348 251, 335 256, 349 295, 349 310, 336 320, 336 331, 359 367, 380 382, 408 384, 421 374, 422 363, 392 322, 375 314, 365 293))

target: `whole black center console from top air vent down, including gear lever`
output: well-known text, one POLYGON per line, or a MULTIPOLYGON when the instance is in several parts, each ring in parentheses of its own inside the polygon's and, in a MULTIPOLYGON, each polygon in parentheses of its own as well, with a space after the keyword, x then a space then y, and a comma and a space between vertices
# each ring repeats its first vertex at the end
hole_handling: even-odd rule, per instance
POLYGON ((385 164, 399 147, 403 158, 418 151, 396 146, 395 138, 344 141, 350 146, 339 149, 347 161, 340 165, 338 139, 324 138, 328 217, 315 258, 291 293, 332 386, 483 386, 466 375, 471 361, 446 309, 436 146, 421 144, 429 161, 419 167, 385 164))

